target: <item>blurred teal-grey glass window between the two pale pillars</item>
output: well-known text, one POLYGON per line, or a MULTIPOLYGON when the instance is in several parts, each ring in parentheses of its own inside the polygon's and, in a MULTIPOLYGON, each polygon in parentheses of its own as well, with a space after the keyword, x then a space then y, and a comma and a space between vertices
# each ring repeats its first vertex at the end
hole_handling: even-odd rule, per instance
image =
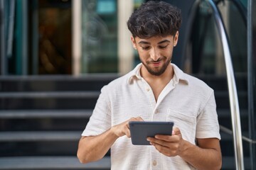
POLYGON ((82 1, 82 73, 117 72, 117 1, 82 1))

